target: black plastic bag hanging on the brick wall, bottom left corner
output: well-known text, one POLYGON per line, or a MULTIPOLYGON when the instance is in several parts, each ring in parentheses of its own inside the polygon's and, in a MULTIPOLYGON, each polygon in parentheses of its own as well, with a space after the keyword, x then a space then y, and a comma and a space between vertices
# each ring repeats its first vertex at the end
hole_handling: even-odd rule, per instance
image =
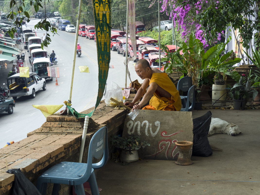
POLYGON ((20 169, 8 169, 6 173, 15 174, 12 195, 41 195, 35 185, 25 177, 20 169))

